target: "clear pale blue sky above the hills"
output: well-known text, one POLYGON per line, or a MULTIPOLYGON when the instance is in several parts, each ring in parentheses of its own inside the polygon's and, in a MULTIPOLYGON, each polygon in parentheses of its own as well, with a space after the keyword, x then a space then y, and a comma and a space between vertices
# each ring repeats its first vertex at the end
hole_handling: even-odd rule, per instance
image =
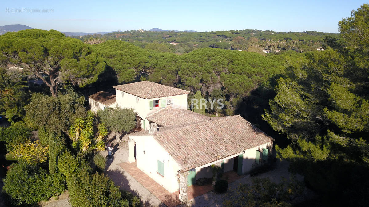
POLYGON ((338 21, 349 17, 352 10, 364 3, 357 0, 12 0, 0 5, 0 26, 24 24, 68 32, 158 27, 196 31, 261 29, 338 33, 338 21))

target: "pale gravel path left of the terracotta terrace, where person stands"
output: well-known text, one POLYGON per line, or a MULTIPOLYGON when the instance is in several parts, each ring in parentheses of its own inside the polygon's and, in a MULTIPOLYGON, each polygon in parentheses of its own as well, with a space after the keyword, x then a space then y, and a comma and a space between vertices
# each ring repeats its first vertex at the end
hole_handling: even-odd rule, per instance
MULTIPOLYGON (((123 140, 124 138, 122 138, 123 140)), ((113 143, 114 145, 114 143, 113 143)), ((108 152, 100 152, 101 155, 107 156, 108 152)), ((120 186, 121 190, 126 190, 138 196, 144 206, 161 206, 161 201, 135 180, 130 174, 125 172, 118 164, 128 162, 128 142, 122 141, 119 146, 114 145, 113 160, 107 161, 105 169, 106 175, 120 186), (118 149, 119 148, 119 149, 118 149)))

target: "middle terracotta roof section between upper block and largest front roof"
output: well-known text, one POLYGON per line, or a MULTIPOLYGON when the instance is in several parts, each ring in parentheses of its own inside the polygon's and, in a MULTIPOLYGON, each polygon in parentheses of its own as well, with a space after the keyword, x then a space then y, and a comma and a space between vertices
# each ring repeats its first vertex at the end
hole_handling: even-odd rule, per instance
POLYGON ((201 115, 190 110, 173 108, 172 106, 168 105, 166 108, 161 109, 158 112, 155 112, 152 115, 146 117, 146 119, 150 120, 151 122, 155 122, 161 126, 175 126, 195 122, 203 122, 206 120, 210 120, 210 117, 201 115))

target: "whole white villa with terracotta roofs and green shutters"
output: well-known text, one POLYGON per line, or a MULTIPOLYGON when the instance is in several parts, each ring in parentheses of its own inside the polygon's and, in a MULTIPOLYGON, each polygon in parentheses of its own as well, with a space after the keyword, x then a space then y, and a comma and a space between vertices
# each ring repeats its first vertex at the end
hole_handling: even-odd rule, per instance
POLYGON ((181 201, 187 186, 213 176, 211 165, 242 175, 271 153, 273 138, 241 116, 187 110, 189 91, 150 81, 113 88, 116 105, 134 108, 142 119, 144 130, 129 134, 128 161, 169 192, 179 190, 181 201))

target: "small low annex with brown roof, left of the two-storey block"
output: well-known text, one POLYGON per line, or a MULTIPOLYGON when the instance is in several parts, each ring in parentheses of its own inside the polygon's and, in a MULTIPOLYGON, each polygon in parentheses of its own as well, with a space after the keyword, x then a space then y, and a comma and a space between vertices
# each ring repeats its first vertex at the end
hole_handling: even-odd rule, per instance
POLYGON ((92 94, 89 96, 90 109, 93 112, 97 112, 98 110, 104 110, 108 107, 115 107, 115 95, 99 91, 96 94, 92 94))

